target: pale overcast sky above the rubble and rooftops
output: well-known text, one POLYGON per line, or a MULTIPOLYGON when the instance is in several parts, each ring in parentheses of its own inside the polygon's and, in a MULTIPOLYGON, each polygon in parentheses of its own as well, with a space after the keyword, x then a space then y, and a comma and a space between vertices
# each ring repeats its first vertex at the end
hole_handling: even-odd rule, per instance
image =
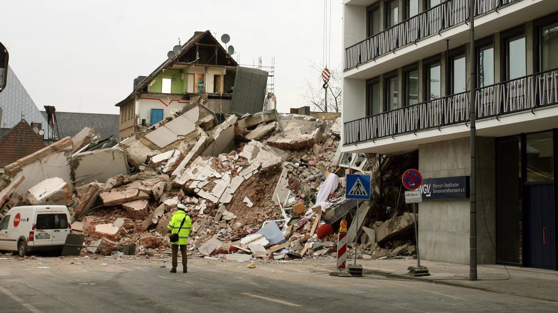
MULTIPOLYGON (((326 0, 329 2, 330 0, 326 0)), ((278 109, 305 104, 309 67, 323 60, 321 0, 5 1, 0 42, 35 104, 58 111, 118 114, 134 77, 150 74, 172 46, 211 30, 230 35, 240 63, 275 56, 278 109), (81 103, 81 109, 80 109, 81 103)), ((341 3, 331 3, 329 68, 341 60, 341 3)), ((329 16, 328 16, 329 18, 329 16)), ((233 55, 235 59, 237 55, 233 55)))

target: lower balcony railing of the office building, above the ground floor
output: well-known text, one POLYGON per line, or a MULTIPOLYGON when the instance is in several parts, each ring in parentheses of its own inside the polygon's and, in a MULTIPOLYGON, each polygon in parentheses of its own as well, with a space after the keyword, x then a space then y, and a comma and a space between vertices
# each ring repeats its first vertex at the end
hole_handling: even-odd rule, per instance
MULTIPOLYGON (((558 69, 519 77, 475 90, 477 119, 534 110, 558 104, 558 69)), ((465 123, 469 119, 469 91, 401 107, 343 125, 343 144, 376 140, 424 129, 465 123)))

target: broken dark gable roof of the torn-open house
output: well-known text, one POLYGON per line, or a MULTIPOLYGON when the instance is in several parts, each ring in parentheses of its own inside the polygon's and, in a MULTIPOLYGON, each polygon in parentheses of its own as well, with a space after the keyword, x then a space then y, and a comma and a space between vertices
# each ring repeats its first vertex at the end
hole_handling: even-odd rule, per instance
MULTIPOLYGON (((227 62, 230 63, 230 66, 232 67, 237 67, 238 63, 236 61, 234 61, 234 59, 232 57, 230 57, 227 53, 227 51, 225 51, 225 48, 223 48, 223 46, 219 43, 219 41, 217 39, 215 39, 215 37, 213 37, 213 35, 211 35, 211 31, 207 30, 204 32, 194 32, 194 36, 192 36, 189 40, 187 40, 184 45, 182 45, 182 52, 179 53, 178 55, 172 57, 172 58, 167 58, 167 60, 165 60, 165 62, 163 62, 160 66, 157 67, 157 69, 155 69, 153 72, 151 72, 150 75, 145 76, 145 78, 141 81, 137 82, 136 87, 134 88, 134 90, 132 91, 131 94, 129 94, 124 100, 119 101, 117 104, 115 104, 114 106, 122 106, 123 104, 126 104, 130 99, 132 99, 134 92, 141 92, 143 89, 145 89, 149 83, 151 81, 153 81, 154 79, 156 79, 156 77, 158 75, 160 75, 163 71, 165 71, 166 69, 169 69, 169 67, 171 67, 174 63, 176 62, 181 62, 181 63, 190 63, 190 64, 198 64, 198 63, 194 63, 195 61, 198 61, 198 59, 194 60, 194 62, 191 62, 190 60, 187 60, 184 58, 184 56, 186 55, 187 52, 190 51, 191 48, 195 47, 196 43, 200 43, 200 41, 202 40, 208 40, 213 42, 216 46, 217 46, 217 51, 215 52, 215 54, 217 54, 218 52, 222 52, 225 53, 225 56, 227 56, 227 62)), ((204 63, 199 63, 199 65, 206 65, 204 63)), ((207 64, 208 65, 208 64, 207 64)), ((208 65, 211 66, 211 65, 208 65)), ((218 65, 215 65, 218 66, 218 65)))

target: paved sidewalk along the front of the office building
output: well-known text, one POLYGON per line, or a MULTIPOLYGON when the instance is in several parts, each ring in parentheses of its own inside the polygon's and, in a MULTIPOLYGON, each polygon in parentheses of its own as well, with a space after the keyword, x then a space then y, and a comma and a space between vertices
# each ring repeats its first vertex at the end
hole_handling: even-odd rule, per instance
MULTIPOLYGON (((347 260, 349 263, 349 260, 347 260)), ((364 275, 423 280, 445 285, 474 288, 501 294, 525 296, 533 299, 558 301, 558 271, 503 265, 478 265, 477 281, 469 281, 469 265, 435 261, 421 261, 430 276, 409 276, 407 268, 416 260, 358 261, 364 275), (509 278, 508 278, 509 272, 509 278)))

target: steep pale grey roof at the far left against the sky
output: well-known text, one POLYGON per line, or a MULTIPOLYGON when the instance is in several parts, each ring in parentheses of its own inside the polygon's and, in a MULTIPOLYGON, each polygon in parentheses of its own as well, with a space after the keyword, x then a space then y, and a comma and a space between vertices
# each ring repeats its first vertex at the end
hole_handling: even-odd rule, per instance
POLYGON ((22 118, 30 121, 30 123, 41 123, 42 129, 47 128, 46 118, 41 114, 39 107, 35 105, 20 79, 9 66, 8 84, 6 89, 0 92, 0 107, 2 108, 2 128, 13 128, 20 123, 22 118))

